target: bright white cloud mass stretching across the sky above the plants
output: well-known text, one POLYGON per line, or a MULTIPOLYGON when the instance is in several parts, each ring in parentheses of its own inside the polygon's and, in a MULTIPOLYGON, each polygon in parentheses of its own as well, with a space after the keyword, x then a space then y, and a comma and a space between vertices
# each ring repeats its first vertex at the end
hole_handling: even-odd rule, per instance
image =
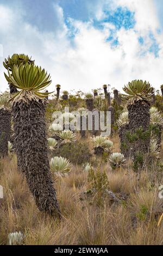
MULTIPOLYGON (((37 27, 23 21, 21 12, 14 15, 14 10, 0 5, 0 14, 3 11, 3 16, 0 17, 0 44, 3 44, 4 57, 15 52, 32 55, 36 64, 51 72, 53 83, 49 90, 53 90, 57 83, 61 84, 62 89, 68 90, 90 91, 104 83, 122 90, 124 84, 136 78, 149 80, 158 89, 162 84, 163 45, 162 34, 156 32, 159 22, 153 0, 115 0, 115 7, 120 4, 135 11, 136 25, 129 31, 122 28, 117 32, 120 45, 115 48, 105 42, 109 35, 108 29, 99 31, 91 22, 76 20, 71 22, 79 33, 76 34, 72 46, 66 35, 67 27, 59 5, 54 5, 60 24, 57 33, 40 32, 37 27), (158 58, 153 53, 145 56, 140 54, 152 43, 148 37, 149 31, 153 32, 160 43, 158 58), (139 44, 140 35, 146 39, 145 46, 139 44)), ((102 15, 102 8, 98 8, 97 15, 102 15)), ((4 57, 0 58, 1 90, 7 87, 2 72, 5 71, 2 66, 4 57)))

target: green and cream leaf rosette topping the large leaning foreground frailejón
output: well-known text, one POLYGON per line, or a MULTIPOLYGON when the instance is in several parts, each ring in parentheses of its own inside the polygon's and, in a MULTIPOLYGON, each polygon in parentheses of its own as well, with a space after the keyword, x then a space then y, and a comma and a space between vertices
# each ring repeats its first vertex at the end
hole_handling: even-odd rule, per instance
POLYGON ((18 90, 10 99, 12 103, 20 100, 25 103, 32 100, 38 101, 51 94, 42 92, 52 81, 45 69, 41 69, 39 66, 28 63, 20 66, 14 65, 12 74, 8 70, 8 75, 5 73, 4 75, 8 83, 12 83, 18 90))

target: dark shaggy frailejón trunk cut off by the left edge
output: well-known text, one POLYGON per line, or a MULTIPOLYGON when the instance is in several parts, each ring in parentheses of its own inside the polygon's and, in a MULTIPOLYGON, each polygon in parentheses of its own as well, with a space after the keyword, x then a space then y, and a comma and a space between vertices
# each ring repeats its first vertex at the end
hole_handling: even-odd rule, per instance
POLYGON ((11 133, 11 113, 0 109, 0 158, 8 155, 8 141, 11 133))

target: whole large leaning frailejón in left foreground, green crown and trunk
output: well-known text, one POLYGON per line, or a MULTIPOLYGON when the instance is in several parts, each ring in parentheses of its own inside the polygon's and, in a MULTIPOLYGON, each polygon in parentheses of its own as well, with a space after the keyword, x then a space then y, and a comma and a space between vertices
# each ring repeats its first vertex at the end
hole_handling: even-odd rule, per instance
POLYGON ((42 93, 50 83, 50 75, 44 69, 31 64, 14 65, 5 78, 17 88, 10 101, 14 120, 18 168, 26 176, 30 192, 40 211, 60 217, 48 161, 45 107, 42 93))

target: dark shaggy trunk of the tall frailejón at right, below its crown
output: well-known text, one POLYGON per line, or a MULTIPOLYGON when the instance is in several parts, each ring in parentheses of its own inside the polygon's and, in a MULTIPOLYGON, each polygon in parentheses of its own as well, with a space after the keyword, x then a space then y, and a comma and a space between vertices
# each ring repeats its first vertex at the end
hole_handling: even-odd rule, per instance
POLYGON ((142 155, 148 153, 150 144, 150 135, 148 136, 150 123, 150 106, 145 101, 136 101, 133 105, 128 106, 129 112, 129 131, 131 135, 136 133, 138 139, 133 143, 134 157, 141 153, 142 155), (142 127, 142 131, 138 132, 142 127))

